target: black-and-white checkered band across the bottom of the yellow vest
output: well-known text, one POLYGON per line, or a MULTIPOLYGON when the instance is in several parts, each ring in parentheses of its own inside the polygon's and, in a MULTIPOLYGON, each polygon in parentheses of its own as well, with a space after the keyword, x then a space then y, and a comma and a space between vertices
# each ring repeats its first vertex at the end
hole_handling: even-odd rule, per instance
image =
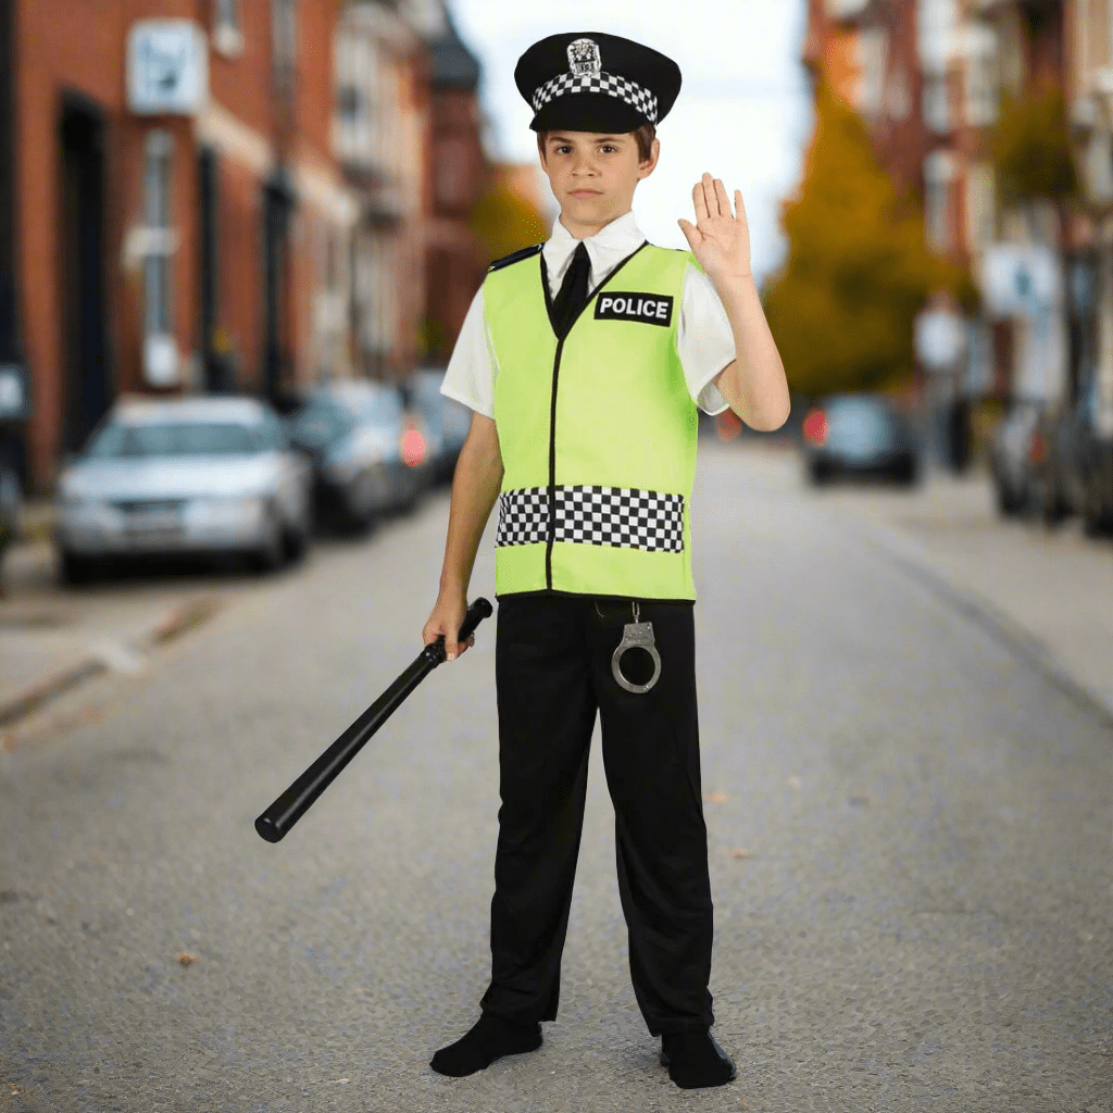
MULTIPOLYGON (((553 540, 647 552, 682 552, 684 498, 637 487, 559 486, 553 540)), ((495 545, 549 540, 549 489, 521 487, 499 498, 495 545)))

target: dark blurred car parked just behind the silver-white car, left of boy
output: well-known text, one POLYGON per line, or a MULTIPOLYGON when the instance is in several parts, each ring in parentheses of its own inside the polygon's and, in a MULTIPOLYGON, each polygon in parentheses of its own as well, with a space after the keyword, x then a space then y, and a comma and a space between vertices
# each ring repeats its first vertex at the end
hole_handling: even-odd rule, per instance
POLYGON ((295 447, 313 461, 318 523, 368 529, 380 515, 413 509, 431 482, 424 423, 393 384, 317 386, 288 422, 295 447))

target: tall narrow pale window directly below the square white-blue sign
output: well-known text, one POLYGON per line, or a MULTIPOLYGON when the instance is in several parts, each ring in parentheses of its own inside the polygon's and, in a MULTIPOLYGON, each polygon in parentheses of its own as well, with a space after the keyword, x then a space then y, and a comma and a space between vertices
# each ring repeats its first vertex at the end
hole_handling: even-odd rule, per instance
POLYGON ((164 386, 177 382, 178 375, 170 288, 177 236, 170 219, 174 139, 169 131, 147 134, 144 162, 144 370, 149 383, 164 386))

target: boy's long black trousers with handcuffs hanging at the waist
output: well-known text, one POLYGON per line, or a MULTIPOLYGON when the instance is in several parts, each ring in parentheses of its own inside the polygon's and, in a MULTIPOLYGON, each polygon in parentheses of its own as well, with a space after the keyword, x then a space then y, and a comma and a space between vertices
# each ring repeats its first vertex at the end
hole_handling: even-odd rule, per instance
MULTIPOLYGON (((583 828, 588 755, 602 719, 603 766, 630 976, 651 1035, 715 1023, 712 905, 696 712, 693 604, 638 600, 661 674, 628 692, 611 672, 629 600, 523 594, 499 601, 495 680, 500 795, 491 984, 481 1006, 552 1021, 583 828)), ((636 682, 636 659, 622 658, 636 682)))

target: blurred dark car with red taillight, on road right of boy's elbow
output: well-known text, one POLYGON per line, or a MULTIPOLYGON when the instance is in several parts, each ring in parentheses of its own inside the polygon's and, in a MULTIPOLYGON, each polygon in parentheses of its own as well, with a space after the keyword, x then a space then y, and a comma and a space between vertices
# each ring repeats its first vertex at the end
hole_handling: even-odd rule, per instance
POLYGON ((830 395, 805 415, 802 435, 812 483, 877 475, 912 484, 919 477, 919 439, 907 415, 884 395, 830 395))

